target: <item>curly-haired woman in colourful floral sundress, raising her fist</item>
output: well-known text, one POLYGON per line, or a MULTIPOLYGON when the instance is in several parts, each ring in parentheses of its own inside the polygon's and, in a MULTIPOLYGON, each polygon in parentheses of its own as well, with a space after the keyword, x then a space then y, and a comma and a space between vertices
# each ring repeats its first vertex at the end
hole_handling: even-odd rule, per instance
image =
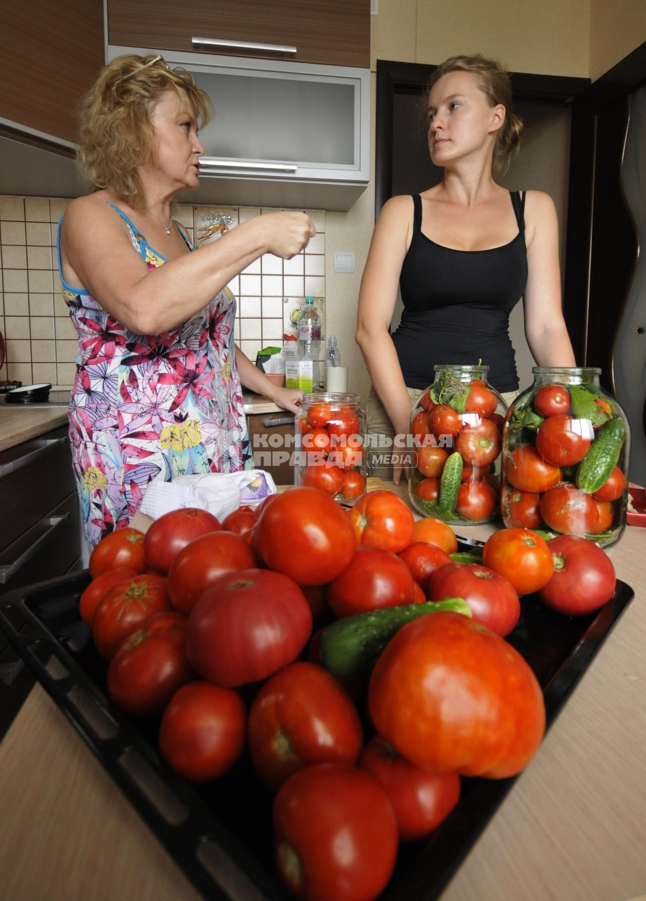
POLYGON ((171 215, 198 185, 208 97, 161 57, 114 59, 82 107, 79 162, 95 187, 59 223, 59 269, 78 332, 69 407, 86 540, 127 524, 152 479, 251 464, 241 383, 296 411, 233 344, 227 282, 314 234, 302 213, 262 215, 193 250, 171 215))

